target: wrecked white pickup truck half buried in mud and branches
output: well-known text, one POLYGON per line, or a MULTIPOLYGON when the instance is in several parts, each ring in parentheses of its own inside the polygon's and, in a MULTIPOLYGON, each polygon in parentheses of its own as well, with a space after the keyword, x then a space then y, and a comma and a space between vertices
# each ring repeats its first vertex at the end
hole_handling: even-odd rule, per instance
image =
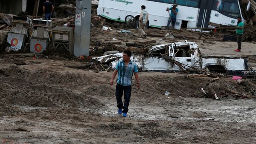
MULTIPOLYGON (((107 69, 114 69, 122 53, 100 56, 98 62, 107 69)), ((202 56, 195 42, 176 42, 152 46, 145 55, 133 54, 131 60, 140 71, 215 71, 247 75, 247 59, 237 56, 202 56)))

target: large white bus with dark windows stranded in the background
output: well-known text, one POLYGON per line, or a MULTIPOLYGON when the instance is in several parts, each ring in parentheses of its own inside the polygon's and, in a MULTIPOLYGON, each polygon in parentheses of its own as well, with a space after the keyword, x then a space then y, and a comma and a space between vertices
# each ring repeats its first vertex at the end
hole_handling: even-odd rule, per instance
POLYGON ((236 25, 236 18, 242 17, 239 0, 99 0, 97 14, 119 22, 132 17, 138 23, 140 6, 145 5, 149 14, 147 26, 161 28, 169 18, 166 8, 173 3, 179 9, 175 29, 205 28, 209 22, 236 25))

